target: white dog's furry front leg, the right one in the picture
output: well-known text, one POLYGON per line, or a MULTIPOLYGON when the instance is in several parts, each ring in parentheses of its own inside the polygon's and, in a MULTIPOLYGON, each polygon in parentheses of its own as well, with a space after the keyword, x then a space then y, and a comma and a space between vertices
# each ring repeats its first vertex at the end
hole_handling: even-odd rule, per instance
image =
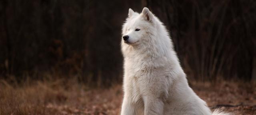
POLYGON ((163 115, 164 103, 162 99, 152 95, 144 96, 144 115, 163 115))

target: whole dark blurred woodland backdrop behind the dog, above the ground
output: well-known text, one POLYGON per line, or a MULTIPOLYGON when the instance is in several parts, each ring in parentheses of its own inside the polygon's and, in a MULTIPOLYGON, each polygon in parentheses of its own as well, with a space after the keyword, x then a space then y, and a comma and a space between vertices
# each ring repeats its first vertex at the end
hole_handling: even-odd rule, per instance
POLYGON ((170 30, 189 79, 256 80, 255 0, 1 0, 0 77, 122 81, 128 8, 170 30))

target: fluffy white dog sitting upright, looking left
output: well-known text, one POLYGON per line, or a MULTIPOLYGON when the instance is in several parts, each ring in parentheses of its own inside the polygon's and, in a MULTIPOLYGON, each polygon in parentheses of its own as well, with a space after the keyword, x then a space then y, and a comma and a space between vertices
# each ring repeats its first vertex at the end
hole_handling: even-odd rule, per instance
POLYGON ((229 115, 212 113, 188 86, 166 28, 148 8, 129 9, 122 35, 121 115, 229 115))

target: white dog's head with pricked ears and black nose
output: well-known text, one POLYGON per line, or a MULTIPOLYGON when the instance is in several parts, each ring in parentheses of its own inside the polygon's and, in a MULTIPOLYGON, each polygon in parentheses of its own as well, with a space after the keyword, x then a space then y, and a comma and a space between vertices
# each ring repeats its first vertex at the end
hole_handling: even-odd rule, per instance
POLYGON ((143 8, 140 14, 129 9, 128 18, 122 29, 122 42, 128 45, 145 42, 155 29, 154 20, 154 14, 148 8, 143 8))

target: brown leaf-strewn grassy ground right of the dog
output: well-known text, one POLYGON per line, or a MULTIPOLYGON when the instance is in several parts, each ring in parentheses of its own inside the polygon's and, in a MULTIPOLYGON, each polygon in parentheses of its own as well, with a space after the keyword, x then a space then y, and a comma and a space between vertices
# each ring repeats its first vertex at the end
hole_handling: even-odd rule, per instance
POLYGON ((256 115, 256 83, 192 81, 190 86, 212 110, 220 107, 235 115, 256 115))

